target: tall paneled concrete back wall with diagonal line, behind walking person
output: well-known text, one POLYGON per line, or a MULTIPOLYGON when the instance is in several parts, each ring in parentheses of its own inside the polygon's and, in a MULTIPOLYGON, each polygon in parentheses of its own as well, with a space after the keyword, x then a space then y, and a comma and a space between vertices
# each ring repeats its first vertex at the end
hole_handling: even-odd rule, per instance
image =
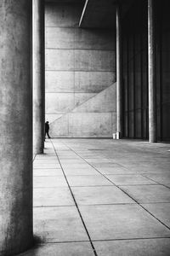
POLYGON ((115 32, 78 28, 81 13, 80 4, 46 4, 46 119, 52 137, 111 137, 115 32))

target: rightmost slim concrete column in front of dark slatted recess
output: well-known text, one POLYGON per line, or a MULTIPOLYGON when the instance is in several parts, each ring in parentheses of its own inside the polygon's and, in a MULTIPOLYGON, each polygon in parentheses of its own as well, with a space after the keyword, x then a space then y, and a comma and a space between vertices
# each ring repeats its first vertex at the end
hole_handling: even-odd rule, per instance
POLYGON ((148 0, 149 140, 156 143, 156 34, 154 0, 148 0))

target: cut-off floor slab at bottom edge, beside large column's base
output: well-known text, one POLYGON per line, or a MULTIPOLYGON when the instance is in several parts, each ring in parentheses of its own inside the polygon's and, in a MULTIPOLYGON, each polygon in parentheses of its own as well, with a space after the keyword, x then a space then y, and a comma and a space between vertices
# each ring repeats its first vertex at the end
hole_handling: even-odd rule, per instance
POLYGON ((88 241, 42 244, 19 256, 94 256, 88 241))

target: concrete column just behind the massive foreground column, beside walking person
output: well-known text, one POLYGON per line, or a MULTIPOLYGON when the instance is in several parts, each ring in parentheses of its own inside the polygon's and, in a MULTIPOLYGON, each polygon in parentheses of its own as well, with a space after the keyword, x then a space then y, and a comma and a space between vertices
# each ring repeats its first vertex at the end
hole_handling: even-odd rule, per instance
POLYGON ((42 154, 45 123, 44 1, 33 0, 33 144, 42 154))

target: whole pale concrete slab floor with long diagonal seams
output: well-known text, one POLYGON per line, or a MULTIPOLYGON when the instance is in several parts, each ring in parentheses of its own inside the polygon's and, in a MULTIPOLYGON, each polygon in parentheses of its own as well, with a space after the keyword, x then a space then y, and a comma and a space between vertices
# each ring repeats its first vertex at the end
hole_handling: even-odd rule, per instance
POLYGON ((34 160, 34 234, 22 255, 170 255, 170 145, 46 140, 34 160))

